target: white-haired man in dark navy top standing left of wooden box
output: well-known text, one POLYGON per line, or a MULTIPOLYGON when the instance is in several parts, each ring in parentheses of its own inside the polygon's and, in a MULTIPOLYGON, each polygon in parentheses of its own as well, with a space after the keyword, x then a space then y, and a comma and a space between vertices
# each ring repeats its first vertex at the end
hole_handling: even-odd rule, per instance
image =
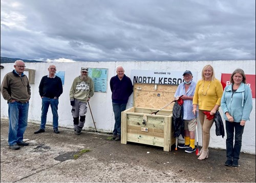
POLYGON ((116 67, 116 76, 110 80, 112 91, 112 106, 115 115, 115 126, 112 138, 116 141, 121 140, 121 113, 126 109, 129 96, 133 93, 133 84, 130 77, 124 74, 122 66, 116 67))

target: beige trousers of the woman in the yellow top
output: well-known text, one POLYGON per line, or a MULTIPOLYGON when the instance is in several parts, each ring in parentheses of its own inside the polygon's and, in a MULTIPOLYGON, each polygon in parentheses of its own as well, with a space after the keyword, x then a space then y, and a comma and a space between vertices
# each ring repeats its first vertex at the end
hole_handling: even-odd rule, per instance
POLYGON ((214 124, 214 119, 206 119, 206 115, 203 113, 204 110, 199 110, 199 119, 202 127, 202 139, 203 139, 203 148, 207 150, 210 143, 210 128, 214 124))

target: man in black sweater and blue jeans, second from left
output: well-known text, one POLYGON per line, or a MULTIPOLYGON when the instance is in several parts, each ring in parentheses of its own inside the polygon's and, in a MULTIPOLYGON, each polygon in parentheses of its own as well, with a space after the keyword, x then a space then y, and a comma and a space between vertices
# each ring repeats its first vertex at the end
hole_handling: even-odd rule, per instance
POLYGON ((53 132, 59 134, 58 130, 58 104, 59 96, 63 92, 62 82, 60 77, 55 75, 56 67, 55 65, 50 65, 48 68, 49 74, 42 77, 39 84, 39 94, 42 99, 42 112, 41 112, 41 125, 40 128, 34 132, 34 134, 39 134, 45 132, 46 128, 46 119, 49 106, 52 109, 52 123, 53 123, 53 132))

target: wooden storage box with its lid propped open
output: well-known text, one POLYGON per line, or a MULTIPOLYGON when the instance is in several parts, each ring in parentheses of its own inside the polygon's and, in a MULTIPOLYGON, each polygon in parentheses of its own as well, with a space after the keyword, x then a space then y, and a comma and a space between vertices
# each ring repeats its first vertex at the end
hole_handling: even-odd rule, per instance
POLYGON ((121 143, 135 142, 163 147, 170 151, 175 144, 173 105, 158 111, 174 100, 177 85, 134 84, 133 106, 122 112, 121 143))

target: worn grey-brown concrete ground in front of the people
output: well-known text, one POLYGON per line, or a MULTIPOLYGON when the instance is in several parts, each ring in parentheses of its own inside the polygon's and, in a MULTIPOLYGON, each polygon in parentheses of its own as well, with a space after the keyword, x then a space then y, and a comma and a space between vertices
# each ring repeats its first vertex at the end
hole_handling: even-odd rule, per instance
POLYGON ((200 161, 183 149, 121 144, 108 140, 109 134, 77 136, 67 128, 54 134, 52 126, 33 134, 38 127, 29 123, 29 146, 14 151, 8 121, 1 120, 1 182, 255 182, 253 154, 241 153, 239 167, 226 167, 225 150, 209 149, 209 158, 200 161))

